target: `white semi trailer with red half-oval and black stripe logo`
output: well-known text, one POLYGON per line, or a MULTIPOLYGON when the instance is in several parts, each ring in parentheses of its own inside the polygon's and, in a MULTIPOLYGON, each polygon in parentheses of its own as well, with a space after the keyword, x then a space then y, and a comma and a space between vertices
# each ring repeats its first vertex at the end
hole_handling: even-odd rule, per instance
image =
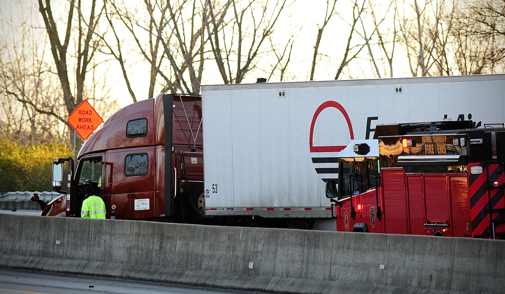
POLYGON ((325 182, 350 140, 377 124, 502 123, 505 74, 202 86, 207 216, 335 230, 325 182))

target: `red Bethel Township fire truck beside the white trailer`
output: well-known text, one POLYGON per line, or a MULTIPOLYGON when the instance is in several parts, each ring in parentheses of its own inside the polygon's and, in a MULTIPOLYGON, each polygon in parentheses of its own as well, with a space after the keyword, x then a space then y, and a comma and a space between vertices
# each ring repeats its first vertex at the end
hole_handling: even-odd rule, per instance
POLYGON ((337 231, 505 239, 505 126, 472 127, 377 125, 352 141, 326 184, 337 231))

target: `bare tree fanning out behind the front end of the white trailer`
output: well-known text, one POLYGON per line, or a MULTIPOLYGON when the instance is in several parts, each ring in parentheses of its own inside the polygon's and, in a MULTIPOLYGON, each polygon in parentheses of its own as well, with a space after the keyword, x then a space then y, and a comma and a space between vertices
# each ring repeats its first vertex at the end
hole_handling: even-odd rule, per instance
MULTIPOLYGON (((291 47, 292 38, 277 45, 267 41, 271 40, 280 16, 290 4, 287 0, 227 0, 219 5, 206 0, 204 21, 224 83, 240 83, 246 73, 259 67, 262 59, 285 56, 276 52, 285 53, 291 47)), ((282 63, 287 64, 281 61, 277 64, 282 63)), ((281 66, 283 70, 285 66, 281 66)))

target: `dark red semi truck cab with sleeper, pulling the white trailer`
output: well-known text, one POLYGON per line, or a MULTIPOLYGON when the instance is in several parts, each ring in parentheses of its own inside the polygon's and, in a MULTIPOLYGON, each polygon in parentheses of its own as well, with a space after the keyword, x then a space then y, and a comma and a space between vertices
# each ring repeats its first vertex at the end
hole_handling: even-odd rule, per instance
POLYGON ((85 141, 75 167, 72 157, 54 162, 53 188, 62 195, 41 215, 80 217, 86 186, 103 198, 107 219, 203 214, 201 115, 200 96, 190 95, 162 93, 122 108, 85 141))

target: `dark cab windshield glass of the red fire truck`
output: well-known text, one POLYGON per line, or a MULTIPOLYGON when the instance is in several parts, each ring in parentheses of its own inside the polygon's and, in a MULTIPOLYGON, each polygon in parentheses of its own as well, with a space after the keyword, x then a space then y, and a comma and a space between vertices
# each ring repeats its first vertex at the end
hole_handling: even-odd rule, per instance
POLYGON ((339 198, 361 194, 376 187, 378 165, 377 157, 340 158, 339 198))

